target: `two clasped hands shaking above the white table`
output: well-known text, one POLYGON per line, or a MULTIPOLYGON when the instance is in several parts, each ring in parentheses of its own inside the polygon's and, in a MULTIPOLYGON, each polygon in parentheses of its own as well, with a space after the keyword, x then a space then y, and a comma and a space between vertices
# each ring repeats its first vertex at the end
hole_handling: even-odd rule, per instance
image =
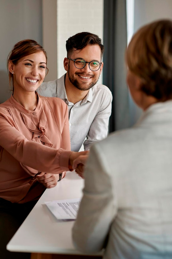
POLYGON ((79 176, 84 178, 84 168, 89 156, 89 151, 72 152, 69 157, 69 170, 75 170, 79 176))

